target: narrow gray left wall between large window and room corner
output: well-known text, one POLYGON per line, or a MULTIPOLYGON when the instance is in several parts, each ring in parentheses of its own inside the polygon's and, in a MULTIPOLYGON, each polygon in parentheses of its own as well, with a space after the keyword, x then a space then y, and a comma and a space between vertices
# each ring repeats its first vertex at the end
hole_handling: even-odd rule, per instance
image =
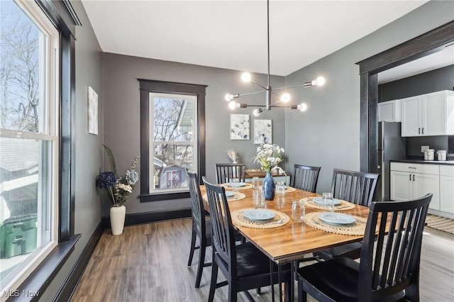
POLYGON ((101 222, 101 202, 96 194, 95 179, 101 168, 100 146, 103 138, 102 52, 80 1, 71 1, 82 26, 76 29, 76 109, 75 109, 75 233, 82 234, 74 252, 41 293, 40 301, 52 301, 63 281, 82 253, 95 228, 101 222), (88 134, 87 86, 98 94, 99 135, 88 134))

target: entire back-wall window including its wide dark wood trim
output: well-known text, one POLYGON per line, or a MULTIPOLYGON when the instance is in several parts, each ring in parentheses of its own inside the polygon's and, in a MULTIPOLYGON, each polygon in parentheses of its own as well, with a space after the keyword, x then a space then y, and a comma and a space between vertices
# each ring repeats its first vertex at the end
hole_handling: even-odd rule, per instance
POLYGON ((189 197, 205 172, 206 86, 140 80, 140 201, 189 197))

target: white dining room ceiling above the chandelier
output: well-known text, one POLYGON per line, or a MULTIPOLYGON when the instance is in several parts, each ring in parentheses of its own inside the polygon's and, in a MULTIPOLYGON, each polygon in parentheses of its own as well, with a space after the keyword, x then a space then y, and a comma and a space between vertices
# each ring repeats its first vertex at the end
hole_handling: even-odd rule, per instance
MULTIPOLYGON (((270 73, 291 74, 425 2, 270 0, 270 73)), ((104 52, 267 73, 265 0, 82 4, 104 52)))

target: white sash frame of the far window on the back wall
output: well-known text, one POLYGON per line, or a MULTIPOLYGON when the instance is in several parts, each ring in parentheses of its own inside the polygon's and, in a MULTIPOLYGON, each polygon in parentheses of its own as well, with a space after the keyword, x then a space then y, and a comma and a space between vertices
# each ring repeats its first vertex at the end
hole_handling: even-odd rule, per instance
MULTIPOLYGON (((190 99, 192 100, 193 104, 193 114, 192 114, 192 142, 186 141, 187 145, 192 146, 192 158, 193 158, 193 170, 197 171, 199 167, 199 163, 197 162, 197 159, 199 158, 199 142, 197 140, 198 136, 198 120, 197 120, 197 96, 196 95, 189 95, 189 94, 162 94, 162 93, 156 93, 156 92, 150 92, 150 97, 149 97, 149 113, 148 116, 150 117, 150 125, 149 125, 149 130, 150 130, 150 145, 149 145, 149 171, 150 171, 150 194, 170 194, 170 193, 179 193, 179 192, 188 192, 189 191, 189 186, 184 186, 181 188, 171 188, 171 189, 154 189, 154 155, 155 155, 155 142, 157 143, 162 143, 162 141, 155 141, 153 139, 153 133, 154 132, 154 99, 155 98, 165 98, 165 99, 190 99)), ((185 144, 184 141, 166 141, 167 143, 176 143, 179 145, 185 144)))

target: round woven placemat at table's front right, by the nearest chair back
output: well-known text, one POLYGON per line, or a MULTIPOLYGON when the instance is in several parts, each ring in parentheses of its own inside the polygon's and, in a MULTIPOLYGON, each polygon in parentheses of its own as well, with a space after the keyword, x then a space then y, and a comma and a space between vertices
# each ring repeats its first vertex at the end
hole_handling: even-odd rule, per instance
POLYGON ((311 226, 312 228, 323 230, 328 233, 351 236, 364 235, 367 218, 351 215, 353 218, 356 219, 355 223, 350 223, 349 225, 331 225, 329 223, 324 223, 322 220, 320 220, 319 214, 320 212, 306 214, 303 218, 304 223, 311 226))

